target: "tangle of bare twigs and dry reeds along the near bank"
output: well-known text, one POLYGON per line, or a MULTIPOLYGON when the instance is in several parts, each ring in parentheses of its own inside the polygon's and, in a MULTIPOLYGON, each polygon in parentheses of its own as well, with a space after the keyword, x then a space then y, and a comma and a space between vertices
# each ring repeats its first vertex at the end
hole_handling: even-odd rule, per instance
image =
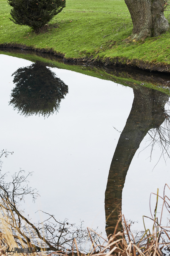
MULTIPOLYGON (((2 151, 0 157, 7 151, 2 151)), ((12 153, 11 153, 12 154, 12 153)), ((1 167, 0 161, 0 167, 1 167)), ((28 177, 29 175, 27 175, 28 177)), ((127 224, 124 215, 119 216, 119 220, 114 229, 114 233, 107 239, 103 238, 96 230, 81 226, 76 227, 69 224, 67 220, 59 222, 54 215, 48 214, 48 218, 42 223, 31 223, 24 216, 24 212, 19 210, 21 200, 26 195, 32 195, 36 199, 37 192, 29 186, 25 186, 27 180, 23 171, 12 176, 12 182, 7 183, 4 175, 0 175, 0 256, 14 255, 14 248, 33 247, 31 255, 61 255, 61 256, 167 256, 170 255, 170 220, 167 225, 163 225, 163 213, 170 215, 170 198, 167 193, 170 187, 165 184, 163 196, 156 195, 156 207, 152 212, 150 206, 152 230, 146 229, 140 237, 134 236, 127 224), (168 191, 167 191, 168 189, 168 191), (166 191, 166 192, 165 192, 166 191), (161 199, 160 218, 158 215, 158 201, 161 199), (54 222, 52 222, 54 221, 54 222), (122 232, 117 232, 120 222, 122 222, 122 232), (84 249, 85 243, 91 242, 90 248, 84 249), (41 250, 39 250, 41 248, 41 250)), ((151 200, 151 197, 150 197, 151 200)), ((114 210, 113 210, 114 211, 114 210)), ((17 253, 17 255, 30 255, 30 253, 17 253)))

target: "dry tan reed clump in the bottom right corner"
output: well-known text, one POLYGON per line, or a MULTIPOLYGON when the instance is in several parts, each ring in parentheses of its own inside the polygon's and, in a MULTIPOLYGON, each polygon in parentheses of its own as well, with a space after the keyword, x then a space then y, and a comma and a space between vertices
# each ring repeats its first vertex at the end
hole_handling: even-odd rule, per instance
MULTIPOLYGON (((170 198, 165 195, 165 189, 169 188, 167 184, 164 186, 164 196, 159 196, 157 194, 151 193, 151 195, 156 195, 156 207, 154 213, 151 212, 150 220, 153 221, 153 230, 152 233, 149 229, 146 230, 145 225, 145 232, 142 234, 142 237, 136 242, 136 239, 133 236, 133 233, 130 231, 130 224, 126 223, 124 215, 120 215, 119 221, 116 224, 115 230, 113 235, 108 237, 108 241, 104 238, 103 244, 97 244, 96 241, 92 241, 91 235, 89 232, 89 237, 92 242, 91 252, 88 253, 88 256, 166 256, 170 255, 170 227, 169 226, 162 226, 162 216, 163 216, 163 209, 167 210, 170 213, 170 198), (157 207, 158 207, 158 199, 162 199, 162 209, 161 209, 161 216, 160 220, 156 217, 157 207), (116 233, 117 227, 119 222, 122 221, 122 226, 124 227, 123 232, 116 233)), ((151 208, 150 208, 151 209, 151 208)), ((168 223, 170 221, 168 220, 168 223)), ((94 231, 95 232, 95 231, 94 231)), ((99 236, 99 235, 98 235, 99 236)), ((100 236, 101 238, 101 236, 100 236)), ((98 240, 99 241, 99 240, 98 240)), ((74 239, 76 255, 79 256, 79 250, 77 248, 76 239, 74 239)), ((74 253, 74 244, 72 250, 72 256, 74 253)), ((60 255, 67 255, 66 253, 61 253, 60 255)), ((85 254, 81 254, 82 256, 85 254)), ((87 254, 86 254, 87 255, 87 254)))

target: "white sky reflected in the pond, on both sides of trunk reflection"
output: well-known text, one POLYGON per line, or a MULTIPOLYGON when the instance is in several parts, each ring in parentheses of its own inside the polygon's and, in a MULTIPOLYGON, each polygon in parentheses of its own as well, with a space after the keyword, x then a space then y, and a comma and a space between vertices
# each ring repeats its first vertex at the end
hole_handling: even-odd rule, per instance
MULTIPOLYGON (((108 172, 133 102, 133 90, 70 70, 52 68, 68 85, 59 113, 42 116, 20 116, 8 105, 13 88, 11 74, 31 61, 0 55, 0 133, 1 147, 14 151, 4 159, 3 172, 20 168, 34 172, 30 185, 37 187, 41 197, 26 212, 42 209, 59 220, 72 223, 85 221, 85 226, 105 228, 104 196, 108 172)), ((161 159, 152 171, 153 161, 145 160, 149 150, 131 163, 123 189, 122 212, 125 218, 140 221, 134 228, 143 229, 142 215, 149 215, 150 192, 162 189, 170 180, 169 162, 161 159)), ((170 183, 169 183, 170 184, 170 183)), ((31 215, 31 214, 30 214, 31 215)), ((33 218, 34 221, 34 218, 33 218)))

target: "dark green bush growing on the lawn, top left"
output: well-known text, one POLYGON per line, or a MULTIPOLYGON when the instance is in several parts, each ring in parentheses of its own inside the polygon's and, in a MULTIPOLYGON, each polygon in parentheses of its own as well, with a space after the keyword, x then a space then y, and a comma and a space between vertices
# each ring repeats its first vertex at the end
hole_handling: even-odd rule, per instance
POLYGON ((65 7, 65 0, 8 0, 11 9, 10 20, 26 25, 36 33, 65 7))

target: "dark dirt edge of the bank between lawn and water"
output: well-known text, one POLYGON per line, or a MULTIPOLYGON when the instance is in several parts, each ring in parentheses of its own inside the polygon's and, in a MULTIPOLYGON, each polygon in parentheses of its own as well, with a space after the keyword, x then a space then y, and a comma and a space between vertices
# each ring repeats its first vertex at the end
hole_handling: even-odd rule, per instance
POLYGON ((120 66, 120 67, 137 67, 142 70, 150 70, 150 71, 157 71, 157 72, 163 72, 163 73, 170 73, 170 65, 161 63, 161 62, 144 62, 138 59, 127 59, 127 58, 94 58, 93 55, 90 57, 83 57, 83 58, 66 58, 65 54, 62 54, 60 52, 56 52, 53 49, 45 49, 45 48, 34 48, 34 47, 29 47, 26 46, 25 44, 0 44, 0 48, 15 48, 15 49, 21 49, 21 50, 32 50, 35 52, 40 52, 40 53, 48 53, 52 54, 58 57, 62 57, 63 61, 66 62, 82 62, 85 64, 102 64, 104 66, 120 66))

